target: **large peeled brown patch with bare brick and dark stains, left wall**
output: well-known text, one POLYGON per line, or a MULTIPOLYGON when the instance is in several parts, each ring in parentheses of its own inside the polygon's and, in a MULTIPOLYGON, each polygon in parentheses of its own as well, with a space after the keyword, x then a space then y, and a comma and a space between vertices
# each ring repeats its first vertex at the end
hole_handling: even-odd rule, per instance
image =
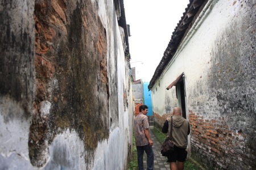
POLYGON ((37 0, 34 18, 36 114, 28 142, 31 163, 42 167, 48 145, 67 128, 84 140, 89 162, 97 143, 109 137, 106 31, 89 0, 37 0), (51 102, 47 117, 40 108, 43 101, 51 102))

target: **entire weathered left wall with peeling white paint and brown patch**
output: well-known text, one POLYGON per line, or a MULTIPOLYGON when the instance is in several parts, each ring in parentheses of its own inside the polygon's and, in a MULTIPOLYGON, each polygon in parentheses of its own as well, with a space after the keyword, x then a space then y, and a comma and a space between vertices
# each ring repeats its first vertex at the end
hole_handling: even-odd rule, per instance
POLYGON ((0 169, 125 169, 133 105, 114 2, 0 12, 0 169))

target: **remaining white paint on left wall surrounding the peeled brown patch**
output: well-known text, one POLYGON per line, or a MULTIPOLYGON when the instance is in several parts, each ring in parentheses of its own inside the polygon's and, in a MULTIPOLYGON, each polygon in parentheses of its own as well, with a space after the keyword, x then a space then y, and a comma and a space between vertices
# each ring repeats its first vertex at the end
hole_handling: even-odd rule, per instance
MULTIPOLYGON (((118 97, 118 103, 116 105, 118 105, 119 119, 116 126, 109 129, 109 138, 98 142, 93 158, 86 158, 89 151, 86 151, 86 148, 84 149, 84 141, 79 138, 76 131, 67 129, 56 135, 49 146, 48 163, 42 169, 120 170, 125 169, 128 162, 127 155, 130 154, 129 148, 131 148, 133 138, 134 104, 132 90, 130 89, 129 96, 127 96, 129 105, 126 108, 123 106, 123 95, 128 94, 128 88, 131 87, 129 75, 126 74, 125 70, 127 69, 127 62, 123 52, 123 37, 119 33, 117 16, 113 13, 113 1, 99 0, 97 2, 98 15, 102 24, 105 25, 108 37, 107 58, 109 61, 115 61, 115 58, 118 59, 117 70, 108 74, 115 75, 116 72, 118 73, 118 96, 116 96, 118 97), (112 19, 115 20, 116 25, 113 25, 112 19), (117 37, 114 37, 114 32, 117 33, 117 37), (118 49, 115 49, 115 41, 117 41, 118 49), (118 56, 114 56, 116 50, 118 50, 118 56), (110 60, 110 58, 112 59, 110 60), (89 160, 89 164, 86 164, 84 158, 89 160)), ((95 3, 95 1, 92 0, 92 3, 95 3)), ((115 63, 109 63, 108 66, 114 68, 115 63)), ((112 83, 111 81, 109 80, 110 83, 112 83)), ((19 108, 19 103, 15 103, 14 100, 8 97, 1 98, 0 101, 0 169, 38 169, 32 167, 28 156, 28 134, 31 122, 29 120, 23 121, 24 113, 19 108), (5 113, 10 108, 12 108, 10 112, 18 113, 14 116, 21 115, 21 117, 16 116, 13 121, 6 122, 5 113)), ((50 106, 51 103, 44 103, 42 113, 49 114, 50 106)), ((111 115, 112 113, 109 114, 109 116, 111 115)))

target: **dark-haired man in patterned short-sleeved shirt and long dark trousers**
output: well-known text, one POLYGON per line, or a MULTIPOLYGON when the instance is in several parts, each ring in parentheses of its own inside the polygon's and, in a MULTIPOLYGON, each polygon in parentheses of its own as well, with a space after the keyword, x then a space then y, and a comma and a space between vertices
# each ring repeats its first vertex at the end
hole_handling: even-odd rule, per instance
POLYGON ((137 147, 139 170, 143 170, 143 154, 147 154, 147 170, 154 168, 154 153, 152 150, 153 142, 149 134, 149 123, 147 115, 147 105, 139 107, 139 114, 134 118, 135 145, 137 147))

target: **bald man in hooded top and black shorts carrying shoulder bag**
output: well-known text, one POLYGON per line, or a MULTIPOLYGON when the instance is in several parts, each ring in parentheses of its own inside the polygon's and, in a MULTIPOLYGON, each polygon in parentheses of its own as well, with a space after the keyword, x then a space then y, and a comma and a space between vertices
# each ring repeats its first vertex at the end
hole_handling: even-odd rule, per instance
MULTIPOLYGON (((184 162, 187 158, 186 148, 188 145, 188 135, 190 133, 189 122, 185 118, 181 117, 180 108, 174 108, 173 114, 172 141, 174 142, 174 151, 167 156, 167 162, 170 163, 171 170, 183 170, 184 162)), ((164 122, 162 132, 167 133, 167 137, 169 137, 170 131, 171 117, 168 117, 164 122)))

